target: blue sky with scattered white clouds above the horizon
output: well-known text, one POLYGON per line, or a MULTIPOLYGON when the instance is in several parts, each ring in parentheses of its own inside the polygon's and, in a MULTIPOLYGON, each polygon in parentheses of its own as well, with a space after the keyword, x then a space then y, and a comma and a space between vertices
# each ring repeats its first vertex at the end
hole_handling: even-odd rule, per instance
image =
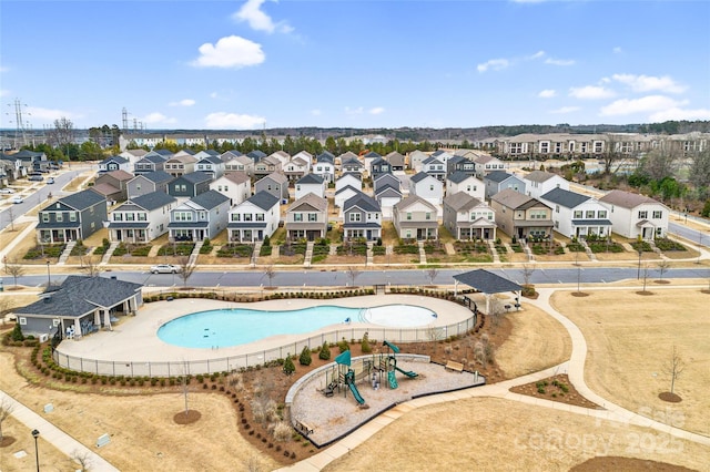
POLYGON ((16 1, 0 127, 710 120, 708 1, 16 1), (7 114, 9 113, 9 114, 7 114))

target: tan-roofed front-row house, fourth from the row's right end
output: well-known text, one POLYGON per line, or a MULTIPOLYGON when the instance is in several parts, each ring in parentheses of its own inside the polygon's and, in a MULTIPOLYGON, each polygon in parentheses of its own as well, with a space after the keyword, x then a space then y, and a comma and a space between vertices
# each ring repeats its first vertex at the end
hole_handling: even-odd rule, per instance
POLYGON ((466 192, 449 194, 444 198, 444 227, 455 239, 495 239, 495 211, 483 198, 466 192))

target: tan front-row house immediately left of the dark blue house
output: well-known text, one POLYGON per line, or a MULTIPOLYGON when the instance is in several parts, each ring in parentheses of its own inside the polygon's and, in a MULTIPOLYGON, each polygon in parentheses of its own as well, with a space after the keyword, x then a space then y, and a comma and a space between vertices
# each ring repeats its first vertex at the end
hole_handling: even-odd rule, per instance
POLYGON ((328 229, 328 201, 314 194, 298 198, 288 206, 284 226, 290 240, 324 238, 328 229))

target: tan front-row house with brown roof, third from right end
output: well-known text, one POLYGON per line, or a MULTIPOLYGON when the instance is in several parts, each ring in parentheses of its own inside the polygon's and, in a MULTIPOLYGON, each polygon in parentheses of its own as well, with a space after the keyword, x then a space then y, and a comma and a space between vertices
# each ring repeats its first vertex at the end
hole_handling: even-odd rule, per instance
POLYGON ((552 208, 528 195, 506 188, 490 198, 498 229, 513 238, 552 236, 552 208))

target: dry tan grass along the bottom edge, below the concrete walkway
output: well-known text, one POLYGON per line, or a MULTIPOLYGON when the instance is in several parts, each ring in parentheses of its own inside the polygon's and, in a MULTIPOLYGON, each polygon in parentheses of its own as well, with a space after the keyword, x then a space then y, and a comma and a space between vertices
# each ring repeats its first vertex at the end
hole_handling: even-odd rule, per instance
POLYGON ((707 469, 710 449, 667 434, 501 399, 469 399, 414 410, 326 471, 382 468, 568 471, 595 455, 652 459, 707 469), (640 449, 640 439, 645 448, 640 449), (649 448, 646 444, 650 444, 649 448), (436 465, 434 465, 436 464, 436 465))

